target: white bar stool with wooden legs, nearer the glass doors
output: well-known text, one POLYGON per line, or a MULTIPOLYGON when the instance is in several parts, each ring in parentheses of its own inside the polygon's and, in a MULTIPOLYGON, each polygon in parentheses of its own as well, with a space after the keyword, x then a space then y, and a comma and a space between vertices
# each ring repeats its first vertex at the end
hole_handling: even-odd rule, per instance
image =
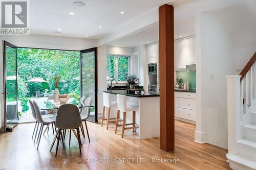
MULTIPOLYGON (((109 123, 116 122, 116 117, 110 118, 111 108, 117 108, 117 102, 111 102, 110 93, 103 92, 103 113, 101 119, 101 127, 103 126, 103 121, 106 120, 106 130, 109 130, 109 123), (105 111, 108 109, 108 118, 105 116, 105 111)), ((119 121, 119 120, 118 120, 119 121)))

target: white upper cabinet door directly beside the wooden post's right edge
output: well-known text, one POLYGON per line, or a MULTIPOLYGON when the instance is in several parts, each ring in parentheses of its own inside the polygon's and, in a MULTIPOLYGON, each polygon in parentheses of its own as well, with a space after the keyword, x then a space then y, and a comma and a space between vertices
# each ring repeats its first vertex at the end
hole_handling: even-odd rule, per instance
POLYGON ((186 41, 175 41, 174 49, 175 68, 186 68, 186 41))

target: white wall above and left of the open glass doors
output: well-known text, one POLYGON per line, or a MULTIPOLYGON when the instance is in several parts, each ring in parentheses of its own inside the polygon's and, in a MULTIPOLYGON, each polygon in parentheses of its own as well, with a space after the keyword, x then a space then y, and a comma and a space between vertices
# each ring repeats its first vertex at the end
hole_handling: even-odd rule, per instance
MULTIPOLYGON (((0 68, 3 66, 3 40, 20 47, 50 48, 58 50, 84 50, 97 45, 96 40, 42 35, 1 36, 0 40, 0 68)), ((3 92, 3 69, 0 69, 0 92, 3 92)), ((0 113, 3 113, 3 94, 0 94, 0 103, 2 103, 0 113)), ((4 121, 3 119, 4 115, 2 114, 2 125, 4 121)))

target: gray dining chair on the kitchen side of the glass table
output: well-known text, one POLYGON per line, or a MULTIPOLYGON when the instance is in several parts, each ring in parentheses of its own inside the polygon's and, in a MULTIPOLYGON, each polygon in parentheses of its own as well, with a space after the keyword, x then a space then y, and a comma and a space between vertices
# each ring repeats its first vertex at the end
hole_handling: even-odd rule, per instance
MULTIPOLYGON (((92 105, 92 98, 87 98, 84 103, 83 103, 85 106, 91 106, 92 105)), ((87 136, 88 136, 88 139, 89 139, 89 142, 90 142, 90 137, 89 137, 89 132, 88 132, 88 127, 87 127, 87 123, 86 123, 86 120, 88 119, 88 117, 90 116, 90 110, 91 110, 91 107, 84 107, 82 108, 82 111, 81 111, 81 121, 82 123, 84 122, 84 124, 86 125, 86 131, 87 131, 87 136)), ((83 126, 81 127, 82 128, 82 133, 83 133, 83 137, 85 137, 84 135, 84 130, 83 130, 83 126)))

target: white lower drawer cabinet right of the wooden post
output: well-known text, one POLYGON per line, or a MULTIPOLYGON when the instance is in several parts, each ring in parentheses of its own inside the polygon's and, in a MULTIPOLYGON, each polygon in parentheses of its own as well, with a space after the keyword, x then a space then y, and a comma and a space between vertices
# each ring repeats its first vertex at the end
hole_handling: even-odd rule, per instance
POLYGON ((196 93, 175 91, 175 118, 196 122, 196 93))

